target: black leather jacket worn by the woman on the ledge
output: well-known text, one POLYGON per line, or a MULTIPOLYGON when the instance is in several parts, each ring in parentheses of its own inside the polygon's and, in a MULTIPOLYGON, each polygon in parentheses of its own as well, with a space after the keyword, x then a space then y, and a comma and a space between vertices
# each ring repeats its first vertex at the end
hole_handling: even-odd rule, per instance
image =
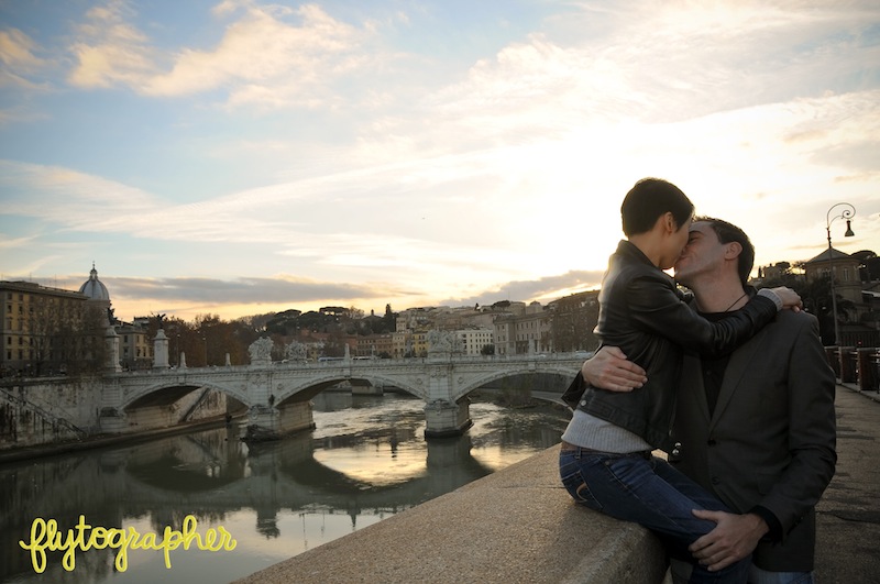
POLYGON ((583 390, 578 409, 626 428, 654 448, 671 452, 682 351, 718 356, 750 339, 777 313, 769 298, 755 296, 729 317, 710 322, 693 311, 674 280, 624 240, 608 260, 598 295, 595 332, 603 345, 619 346, 647 372, 648 382, 629 393, 594 388, 578 374, 566 395, 583 390))

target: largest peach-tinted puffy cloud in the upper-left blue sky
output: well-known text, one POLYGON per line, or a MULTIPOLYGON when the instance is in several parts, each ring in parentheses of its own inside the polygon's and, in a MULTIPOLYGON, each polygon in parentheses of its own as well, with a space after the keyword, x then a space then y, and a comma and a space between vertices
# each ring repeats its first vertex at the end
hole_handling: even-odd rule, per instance
MULTIPOLYGON (((374 34, 331 18, 317 4, 288 9, 255 2, 223 2, 218 18, 232 20, 208 49, 163 51, 130 23, 121 1, 91 9, 72 47, 77 65, 69 81, 84 88, 114 85, 153 97, 221 91, 230 108, 328 107, 333 82, 381 59, 364 43, 374 34)), ((370 68, 373 67, 371 65, 370 68)))

